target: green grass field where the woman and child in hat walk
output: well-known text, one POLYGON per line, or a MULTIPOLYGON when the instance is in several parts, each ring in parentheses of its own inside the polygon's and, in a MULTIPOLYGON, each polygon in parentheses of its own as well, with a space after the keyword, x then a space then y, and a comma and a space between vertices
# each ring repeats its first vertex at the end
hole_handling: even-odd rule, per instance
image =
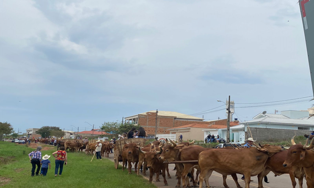
MULTIPOLYGON (((45 145, 46 147, 46 145, 45 145)), ((52 147, 52 146, 51 146, 52 147)), ((51 155, 55 148, 42 150, 42 155, 51 155)), ((51 155, 51 169, 47 176, 31 177, 28 154, 35 150, 14 143, 0 142, 0 187, 127 187, 156 188, 148 180, 136 174, 128 175, 122 168, 116 170, 108 159, 95 160, 84 153, 68 153, 68 164, 63 167, 62 176, 54 177, 54 158, 51 155)))

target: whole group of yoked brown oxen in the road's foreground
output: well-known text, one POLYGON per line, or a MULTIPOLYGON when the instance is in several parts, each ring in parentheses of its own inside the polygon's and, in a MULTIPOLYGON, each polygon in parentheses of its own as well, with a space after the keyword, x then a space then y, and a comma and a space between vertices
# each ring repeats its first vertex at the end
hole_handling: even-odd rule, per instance
MULTIPOLYGON (((168 178, 171 178, 168 171, 168 163, 175 164, 176 176, 178 179, 176 187, 184 188, 192 186, 202 187, 203 182, 207 187, 210 186, 208 179, 213 171, 223 176, 223 185, 229 187, 226 183, 227 175, 231 175, 238 188, 236 174, 245 176, 245 188, 249 188, 251 176, 258 178, 258 188, 263 188, 263 179, 267 182, 269 172, 275 176, 289 174, 292 187, 295 188, 298 179, 299 186, 302 188, 304 176, 308 188, 314 188, 314 147, 312 139, 311 144, 295 144, 294 137, 291 139, 292 146, 274 146, 270 144, 258 144, 255 147, 239 148, 204 148, 193 145, 189 142, 176 143, 173 140, 166 140, 163 145, 158 141, 148 144, 141 148, 139 144, 127 143, 122 151, 122 170, 128 163, 128 171, 131 173, 132 164, 135 172, 139 175, 142 169, 143 175, 146 175, 146 168, 149 169, 149 181, 152 181, 153 174, 156 173, 156 181, 159 180, 159 174, 163 176, 164 184, 168 185, 165 178, 167 171, 168 178), (232 158, 230 158, 232 156, 232 158), (194 169, 197 170, 194 178, 194 169), (199 174, 199 181, 198 181, 199 174), (191 179, 189 181, 189 178, 191 179)), ((307 139, 308 143, 308 139, 307 139)), ((269 182, 267 182, 269 183, 269 182)))

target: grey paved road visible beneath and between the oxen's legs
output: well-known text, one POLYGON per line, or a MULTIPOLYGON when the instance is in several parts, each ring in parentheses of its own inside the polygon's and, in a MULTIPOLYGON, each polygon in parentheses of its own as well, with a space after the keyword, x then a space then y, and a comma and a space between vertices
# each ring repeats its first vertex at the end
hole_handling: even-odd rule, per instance
MULTIPOLYGON (((110 154, 108 159, 113 161, 113 154, 110 154)), ((122 165, 122 162, 120 162, 120 164, 122 165)), ((166 175, 168 186, 164 185, 163 178, 161 175, 160 175, 160 182, 155 182, 155 176, 154 176, 153 177, 153 183, 159 187, 165 187, 165 188, 166 187, 167 188, 176 187, 176 183, 178 180, 176 180, 176 176, 175 176, 176 172, 172 171, 174 169, 174 166, 175 166, 174 164, 169 164, 169 173, 170 173, 172 178, 168 179, 167 175, 166 175)), ((121 170, 121 169, 122 169, 122 167, 120 166, 118 170, 121 170)), ((132 168, 132 169, 134 170, 134 168, 132 168)), ((144 177, 149 178, 149 172, 147 172, 146 174, 147 174, 147 176, 144 176, 144 177)), ((196 176, 196 174, 194 175, 194 177, 195 176, 196 176)), ((245 182, 243 180, 241 180, 241 177, 242 177, 242 175, 238 174, 238 179, 239 179, 238 181, 242 187, 245 187, 245 182)), ((267 177, 268 177, 268 181, 270 183, 263 182, 264 188, 289 188, 289 187, 292 187, 291 180, 290 180, 290 177, 288 174, 283 174, 283 175, 275 177, 274 174, 272 172, 270 172, 267 175, 267 177)), ((257 188, 257 186, 258 186, 257 176, 251 177, 251 180, 253 180, 253 182, 250 183, 250 188, 257 188)), ((296 187, 299 188, 297 179, 296 179, 296 182, 297 182, 296 187)), ((190 182, 190 184, 192 185, 192 182, 190 182)), ((212 175, 209 178, 209 184, 210 184, 210 187, 221 187, 221 188, 225 187, 222 185, 222 175, 217 173, 217 172, 212 173, 212 175)), ((228 175, 228 177, 227 177, 227 184, 230 188, 237 188, 231 175, 228 175)), ((182 184, 181 184, 181 187, 182 187, 182 184)), ((203 184, 203 187, 205 187, 205 183, 203 184)), ((306 180, 303 180, 303 188, 306 188, 306 187, 307 187, 306 186, 306 180)))

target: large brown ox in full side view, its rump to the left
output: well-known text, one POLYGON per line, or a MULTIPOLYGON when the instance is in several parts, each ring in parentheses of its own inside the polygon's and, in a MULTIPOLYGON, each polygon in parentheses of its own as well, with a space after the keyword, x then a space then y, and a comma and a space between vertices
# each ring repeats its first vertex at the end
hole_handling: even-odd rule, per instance
MULTIPOLYGON (((264 165, 273 154, 281 151, 279 146, 264 144, 264 146, 247 149, 210 149, 203 151, 198 156, 198 165, 201 169, 199 186, 203 186, 205 180, 209 187, 208 179, 213 171, 220 174, 242 174, 245 176, 245 188, 250 187, 251 176, 256 176, 264 170, 264 165), (209 157, 210 156, 210 157, 209 157), (233 156, 232 161, 230 156, 233 156), (245 160, 243 160, 245 159, 245 160), (237 161, 236 163, 234 161, 237 161)), ((263 176, 262 176, 263 177, 263 176)))

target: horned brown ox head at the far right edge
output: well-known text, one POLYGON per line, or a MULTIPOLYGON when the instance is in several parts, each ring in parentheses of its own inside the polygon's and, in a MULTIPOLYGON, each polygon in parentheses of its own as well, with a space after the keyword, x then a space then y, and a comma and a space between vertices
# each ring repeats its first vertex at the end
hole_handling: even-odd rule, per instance
MULTIPOLYGON (((313 163, 309 164, 310 161, 306 159, 306 152, 309 149, 313 149, 314 147, 314 139, 312 139, 311 144, 307 146, 307 144, 295 144, 294 137, 291 139, 292 146, 288 149, 287 159, 284 161, 283 166, 287 168, 291 168, 292 166, 297 167, 308 167, 313 163)), ((313 159, 310 159, 313 160, 313 159)))

